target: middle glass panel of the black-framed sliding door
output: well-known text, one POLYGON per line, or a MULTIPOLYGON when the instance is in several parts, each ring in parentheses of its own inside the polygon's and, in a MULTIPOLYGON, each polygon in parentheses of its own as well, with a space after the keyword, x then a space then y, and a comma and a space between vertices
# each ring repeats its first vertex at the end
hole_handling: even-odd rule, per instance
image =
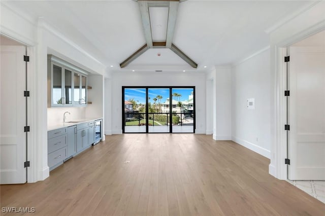
POLYGON ((170 132, 169 88, 148 88, 148 132, 170 132))

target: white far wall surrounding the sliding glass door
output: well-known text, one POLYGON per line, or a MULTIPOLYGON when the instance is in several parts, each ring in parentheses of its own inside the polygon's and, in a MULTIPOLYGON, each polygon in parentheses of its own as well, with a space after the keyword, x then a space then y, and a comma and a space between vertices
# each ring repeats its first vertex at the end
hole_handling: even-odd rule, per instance
MULTIPOLYGON (((111 124, 112 133, 122 133, 122 86, 195 86, 196 87, 196 133, 206 133, 206 75, 200 73, 114 73, 112 90, 111 124)), ((108 91, 108 89, 106 89, 108 91)))

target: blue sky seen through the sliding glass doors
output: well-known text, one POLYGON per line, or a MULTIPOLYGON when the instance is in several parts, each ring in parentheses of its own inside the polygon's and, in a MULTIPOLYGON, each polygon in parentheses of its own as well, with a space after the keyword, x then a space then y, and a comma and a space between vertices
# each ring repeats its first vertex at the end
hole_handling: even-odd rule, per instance
MULTIPOLYGON (((193 89, 172 89, 173 93, 181 94, 181 101, 188 100, 188 95, 190 95, 191 91, 193 89)), ((169 98, 169 89, 148 89, 148 94, 150 97, 149 102, 153 103, 153 98, 157 95, 163 96, 163 99, 161 99, 161 102, 165 102, 166 98, 169 98)), ((125 100, 134 98, 135 101, 139 101, 138 103, 144 104, 146 102, 146 89, 125 89, 124 90, 124 98, 125 100)), ((173 98, 176 99, 176 98, 173 98)))

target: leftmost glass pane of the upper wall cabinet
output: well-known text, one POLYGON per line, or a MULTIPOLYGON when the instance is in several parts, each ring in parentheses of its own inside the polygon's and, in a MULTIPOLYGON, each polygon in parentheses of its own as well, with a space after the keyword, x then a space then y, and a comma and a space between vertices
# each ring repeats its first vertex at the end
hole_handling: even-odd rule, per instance
POLYGON ((53 64, 53 104, 62 104, 62 67, 53 64))

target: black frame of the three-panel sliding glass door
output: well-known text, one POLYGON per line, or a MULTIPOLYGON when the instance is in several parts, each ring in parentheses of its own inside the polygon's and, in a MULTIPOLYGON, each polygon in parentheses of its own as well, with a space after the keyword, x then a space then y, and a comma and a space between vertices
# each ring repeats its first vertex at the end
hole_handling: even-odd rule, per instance
MULTIPOLYGON (((195 129, 196 129, 196 92, 195 92, 195 86, 122 86, 122 133, 149 133, 149 118, 148 118, 148 113, 149 113, 149 104, 148 104, 148 89, 169 89, 169 98, 173 98, 172 97, 172 90, 173 89, 193 89, 193 132, 189 132, 189 133, 195 133, 195 129), (125 97, 124 97, 124 90, 125 89, 145 89, 146 90, 146 132, 125 132, 125 110, 124 110, 124 101, 125 101, 125 97)), ((165 132, 165 133, 173 133, 173 124, 171 124, 172 119, 172 114, 173 114, 173 99, 169 100, 169 132, 165 132)), ((150 133, 158 133, 158 132, 150 132, 150 133)), ((164 133, 164 132, 162 132, 164 133)), ((186 133, 186 132, 184 132, 186 133)))

